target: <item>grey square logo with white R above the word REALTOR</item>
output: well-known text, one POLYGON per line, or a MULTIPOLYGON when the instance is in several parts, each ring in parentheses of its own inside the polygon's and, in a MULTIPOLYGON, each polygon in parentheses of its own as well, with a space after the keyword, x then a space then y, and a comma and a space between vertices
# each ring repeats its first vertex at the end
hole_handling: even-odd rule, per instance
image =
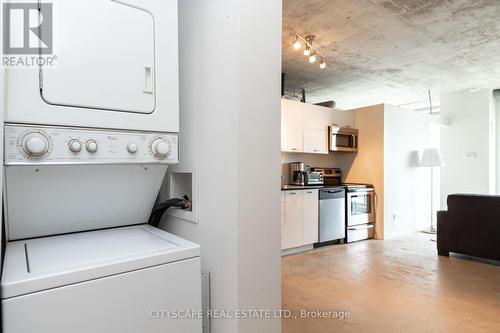
POLYGON ((52 3, 4 3, 4 55, 52 54, 52 17, 52 3))

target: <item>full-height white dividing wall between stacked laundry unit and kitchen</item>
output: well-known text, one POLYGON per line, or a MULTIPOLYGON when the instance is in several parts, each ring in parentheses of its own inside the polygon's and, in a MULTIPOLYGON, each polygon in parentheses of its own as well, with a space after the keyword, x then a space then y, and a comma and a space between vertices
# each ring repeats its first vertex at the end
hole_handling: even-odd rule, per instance
MULTIPOLYGON (((179 1, 181 163, 198 166, 212 308, 280 308, 281 1, 179 1), (274 171, 273 171, 274 170, 274 171)), ((279 332, 279 320, 213 320, 212 332, 279 332)))

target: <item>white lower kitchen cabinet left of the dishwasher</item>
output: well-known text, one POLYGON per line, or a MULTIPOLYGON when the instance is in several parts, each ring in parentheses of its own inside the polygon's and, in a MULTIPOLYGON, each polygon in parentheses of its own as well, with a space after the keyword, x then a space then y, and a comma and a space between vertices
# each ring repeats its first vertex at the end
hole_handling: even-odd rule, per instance
POLYGON ((282 192, 281 249, 318 241, 318 190, 282 192))

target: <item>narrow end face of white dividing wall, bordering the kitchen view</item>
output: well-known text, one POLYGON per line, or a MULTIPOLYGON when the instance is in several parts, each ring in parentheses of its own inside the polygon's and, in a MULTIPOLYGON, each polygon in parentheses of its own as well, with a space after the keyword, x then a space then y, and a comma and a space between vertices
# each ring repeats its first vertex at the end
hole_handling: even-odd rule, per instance
MULTIPOLYGON (((240 15, 238 304, 279 309, 281 1, 241 1, 240 15)), ((280 329, 279 319, 239 323, 239 332, 280 329)))

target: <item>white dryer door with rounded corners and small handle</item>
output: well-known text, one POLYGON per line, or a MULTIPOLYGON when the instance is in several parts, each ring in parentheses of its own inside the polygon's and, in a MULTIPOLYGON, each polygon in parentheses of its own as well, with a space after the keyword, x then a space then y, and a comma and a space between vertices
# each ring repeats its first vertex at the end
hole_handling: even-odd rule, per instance
POLYGON ((53 8, 57 64, 40 69, 44 101, 152 113, 156 105, 153 16, 117 1, 55 1, 53 8))

